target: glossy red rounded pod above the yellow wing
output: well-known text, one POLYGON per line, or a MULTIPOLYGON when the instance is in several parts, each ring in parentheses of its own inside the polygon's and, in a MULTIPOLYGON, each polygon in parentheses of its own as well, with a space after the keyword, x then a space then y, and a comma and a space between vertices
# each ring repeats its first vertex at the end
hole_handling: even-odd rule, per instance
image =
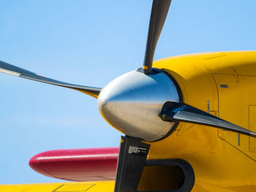
POLYGON ((48 177, 72 180, 115 180, 118 147, 49 150, 29 161, 34 171, 48 177))

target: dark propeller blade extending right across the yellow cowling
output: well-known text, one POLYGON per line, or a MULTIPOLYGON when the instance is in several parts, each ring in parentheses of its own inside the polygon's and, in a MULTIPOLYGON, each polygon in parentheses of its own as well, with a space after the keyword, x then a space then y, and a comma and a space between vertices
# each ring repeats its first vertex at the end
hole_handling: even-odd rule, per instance
POLYGON ((251 137, 256 137, 256 133, 253 131, 249 131, 246 128, 236 126, 233 123, 229 123, 226 120, 217 118, 214 115, 211 115, 202 110, 198 110, 197 108, 184 103, 165 104, 164 107, 162 108, 161 118, 162 120, 166 121, 183 121, 187 123, 213 126, 217 128, 223 128, 228 131, 234 131, 240 134, 246 134, 251 137))

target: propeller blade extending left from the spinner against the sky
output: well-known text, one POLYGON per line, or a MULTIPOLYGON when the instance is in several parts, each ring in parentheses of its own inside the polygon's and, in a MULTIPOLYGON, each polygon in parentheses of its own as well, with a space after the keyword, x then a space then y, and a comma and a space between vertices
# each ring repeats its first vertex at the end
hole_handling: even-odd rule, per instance
POLYGON ((29 80, 34 80, 34 81, 39 81, 39 82, 45 82, 51 85, 57 85, 57 86, 61 86, 64 88, 72 88, 75 89, 77 91, 83 92, 88 94, 89 96, 93 96, 94 98, 98 98, 99 92, 101 90, 101 88, 91 88, 91 87, 86 87, 83 85, 74 85, 74 84, 70 84, 67 82, 61 82, 58 80, 53 80, 50 79, 48 77, 42 77, 38 74, 35 74, 33 72, 29 72, 26 69, 22 69, 18 66, 13 66, 11 64, 7 64, 3 61, 0 61, 0 72, 4 72, 7 74, 12 74, 18 77, 23 77, 29 80))

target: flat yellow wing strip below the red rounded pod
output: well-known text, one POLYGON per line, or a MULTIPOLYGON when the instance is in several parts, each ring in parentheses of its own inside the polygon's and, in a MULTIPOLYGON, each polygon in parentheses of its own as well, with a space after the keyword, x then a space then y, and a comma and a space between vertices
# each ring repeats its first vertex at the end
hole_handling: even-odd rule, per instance
POLYGON ((0 185, 1 192, 113 192, 114 181, 0 185))

